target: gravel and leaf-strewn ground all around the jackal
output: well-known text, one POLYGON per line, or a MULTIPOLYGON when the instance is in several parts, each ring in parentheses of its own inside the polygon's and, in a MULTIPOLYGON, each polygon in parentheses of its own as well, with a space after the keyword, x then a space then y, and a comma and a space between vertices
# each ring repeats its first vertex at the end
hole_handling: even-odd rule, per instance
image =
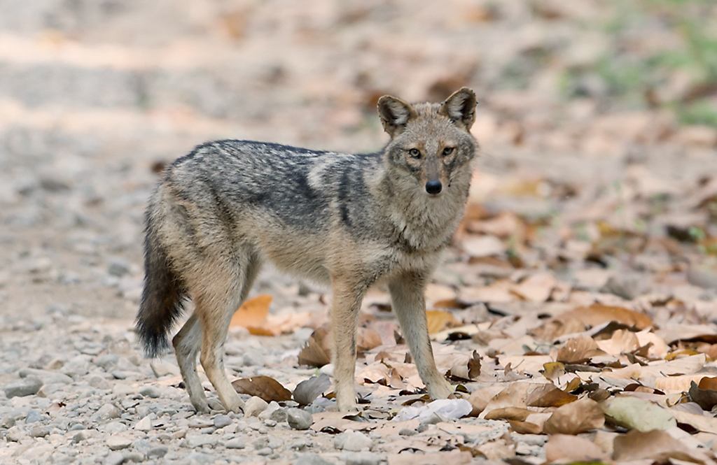
POLYGON ((0 0, 0 11, 0 462, 713 463, 713 5, 0 0), (260 323, 232 326, 227 368, 294 398, 245 394, 249 411, 227 415, 205 383, 217 411, 196 414, 174 355, 143 358, 132 331, 158 172, 217 138, 379 150, 381 95, 439 101, 462 85, 480 100, 481 158, 428 300, 440 368, 463 394, 438 413, 399 413, 427 400, 376 289, 357 371, 364 412, 333 412, 330 385, 302 405, 297 386, 331 374, 303 350, 320 353, 331 296, 267 269, 252 291, 264 303, 244 309, 260 323), (559 395, 546 400, 546 386, 559 395), (625 398, 657 413, 616 419, 625 398), (561 410, 571 405, 582 413, 561 410), (632 447, 637 433, 664 450, 632 447))

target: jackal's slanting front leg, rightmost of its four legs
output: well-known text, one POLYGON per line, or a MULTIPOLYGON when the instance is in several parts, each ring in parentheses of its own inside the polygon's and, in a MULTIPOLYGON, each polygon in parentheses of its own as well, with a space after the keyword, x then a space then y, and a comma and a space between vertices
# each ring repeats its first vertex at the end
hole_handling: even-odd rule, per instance
POLYGON ((427 277, 423 274, 408 272, 391 282, 391 305, 428 395, 434 399, 445 399, 453 393, 453 388, 438 372, 433 359, 424 297, 426 280, 427 277))

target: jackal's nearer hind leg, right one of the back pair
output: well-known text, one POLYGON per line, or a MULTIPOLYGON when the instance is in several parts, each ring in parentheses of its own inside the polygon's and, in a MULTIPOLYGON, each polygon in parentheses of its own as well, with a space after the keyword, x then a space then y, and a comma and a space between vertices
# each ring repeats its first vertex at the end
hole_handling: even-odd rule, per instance
POLYGON ((219 401, 227 411, 238 412, 244 408, 244 402, 229 383, 224 370, 224 342, 227 340, 229 322, 239 305, 252 287, 260 269, 258 259, 245 256, 244 267, 234 270, 234 276, 212 276, 212 283, 204 287, 204 292, 196 297, 196 312, 201 322, 201 355, 199 360, 204 373, 217 390, 219 401))

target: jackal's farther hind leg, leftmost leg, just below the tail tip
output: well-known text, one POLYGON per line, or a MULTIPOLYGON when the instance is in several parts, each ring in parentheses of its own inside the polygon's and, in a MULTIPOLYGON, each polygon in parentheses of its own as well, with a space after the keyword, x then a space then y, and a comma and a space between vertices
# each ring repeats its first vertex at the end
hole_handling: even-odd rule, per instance
POLYGON ((199 325, 199 317, 194 313, 174 336, 172 345, 174 345, 174 354, 179 364, 181 376, 184 378, 186 392, 189 394, 191 405, 198 412, 209 412, 204 388, 201 387, 199 374, 196 373, 196 355, 199 353, 200 344, 201 326, 199 325))

